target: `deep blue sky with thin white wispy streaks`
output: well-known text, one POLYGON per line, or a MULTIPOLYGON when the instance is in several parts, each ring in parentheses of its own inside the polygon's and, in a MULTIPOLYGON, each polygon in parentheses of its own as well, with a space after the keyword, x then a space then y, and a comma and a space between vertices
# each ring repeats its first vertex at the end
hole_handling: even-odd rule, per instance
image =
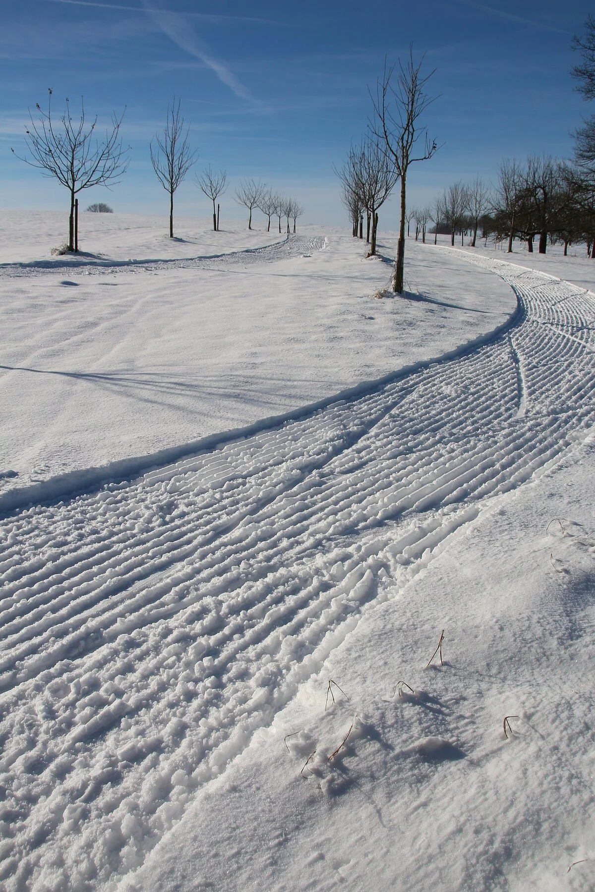
MULTIPOLYGON (((333 163, 367 127, 384 56, 426 53, 436 69, 427 110, 430 136, 443 144, 411 169, 411 203, 456 179, 494 178, 503 156, 572 152, 570 131, 589 113, 569 75, 570 41, 591 12, 586 0, 0 0, 2 114, 0 205, 62 209, 67 194, 15 159, 28 107, 55 110, 65 96, 108 120, 126 106, 127 174, 112 192, 81 196, 117 211, 165 213, 167 196, 148 145, 173 95, 206 164, 227 169, 227 216, 242 177, 266 180, 305 206, 304 220, 343 222, 333 163)), ((591 111, 595 111, 591 110, 591 111)), ((178 213, 207 214, 189 178, 178 213)), ((396 226, 397 202, 381 214, 396 226)))

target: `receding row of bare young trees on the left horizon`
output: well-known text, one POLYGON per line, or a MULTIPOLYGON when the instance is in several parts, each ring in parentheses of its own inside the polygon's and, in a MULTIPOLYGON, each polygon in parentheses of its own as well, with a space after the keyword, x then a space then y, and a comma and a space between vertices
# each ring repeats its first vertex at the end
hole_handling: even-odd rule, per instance
MULTIPOLYGON (((56 116, 52 108, 52 93, 47 111, 36 104, 38 120, 29 110, 29 127, 25 129, 27 151, 20 155, 12 153, 21 161, 40 169, 45 177, 56 178, 70 193, 69 237, 64 250, 79 250, 79 200, 77 195, 92 186, 113 186, 128 169, 130 147, 124 147, 120 138, 120 126, 124 112, 117 117, 112 114, 112 126, 107 128, 105 137, 95 134, 97 118, 87 121, 85 106, 81 100, 80 115, 70 111, 66 100, 66 111, 56 116)), ((174 195, 178 186, 194 165, 198 154, 190 145, 190 128, 185 126, 180 113, 180 100, 168 105, 165 127, 156 134, 149 145, 149 154, 156 177, 169 195, 169 237, 174 237, 174 195)), ((194 183, 207 196, 213 206, 213 229, 219 230, 220 195, 227 189, 227 172, 213 171, 211 165, 194 177, 194 183)), ((252 229, 252 211, 256 208, 270 221, 278 218, 279 233, 281 221, 286 231, 296 230, 297 219, 303 214, 302 206, 294 199, 277 192, 269 186, 253 179, 243 180, 236 189, 235 200, 249 210, 248 228, 252 229)), ((112 213, 112 208, 103 202, 89 205, 87 211, 112 213)))

